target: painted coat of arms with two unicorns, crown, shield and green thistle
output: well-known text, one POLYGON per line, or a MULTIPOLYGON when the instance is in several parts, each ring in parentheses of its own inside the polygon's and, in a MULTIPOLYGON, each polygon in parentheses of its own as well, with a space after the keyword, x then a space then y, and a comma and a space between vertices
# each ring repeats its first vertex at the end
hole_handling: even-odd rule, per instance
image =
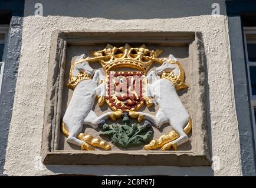
POLYGON ((188 88, 185 72, 173 55, 159 58, 161 53, 161 49, 132 48, 126 43, 120 48, 108 44, 91 52, 91 57, 78 56, 67 83, 74 92, 61 125, 67 142, 81 150, 110 150, 109 142, 126 149, 177 150, 188 142, 192 120, 177 94, 177 90, 188 88), (104 73, 91 68, 91 63, 100 63, 104 73), (159 66, 148 71, 153 63, 159 66), (93 110, 96 99, 99 106, 107 103, 111 111, 97 115, 93 110), (155 115, 141 110, 152 105, 159 107, 155 115), (152 139, 152 127, 160 129, 165 123, 172 131, 152 139), (82 132, 83 125, 100 129, 100 137, 82 132))

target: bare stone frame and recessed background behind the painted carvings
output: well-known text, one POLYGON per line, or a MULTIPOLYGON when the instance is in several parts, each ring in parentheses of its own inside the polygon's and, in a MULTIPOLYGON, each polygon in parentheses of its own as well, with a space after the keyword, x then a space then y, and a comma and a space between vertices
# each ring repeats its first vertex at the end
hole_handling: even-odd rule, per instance
MULTIPOLYGON (((204 44, 201 33, 198 32, 155 32, 155 31, 119 31, 119 32, 65 32, 52 33, 51 54, 49 62, 47 102, 45 106, 44 138, 42 140, 42 157, 45 164, 126 164, 126 165, 166 165, 166 166, 207 166, 210 165, 208 153, 208 138, 206 131, 206 70, 204 44), (73 97, 73 90, 67 87, 71 65, 81 54, 91 56, 92 51, 100 51, 110 43, 120 48, 129 43, 131 48, 143 44, 150 51, 162 49, 157 58, 175 56, 185 72, 185 84, 188 88, 177 90, 180 101, 188 111, 192 120, 192 131, 189 140, 178 146, 178 150, 145 150, 144 145, 122 148, 114 145, 109 138, 101 136, 102 127, 94 129, 83 126, 83 133, 106 141, 111 150, 94 147, 93 151, 81 150, 80 146, 67 142, 67 137, 61 131, 63 116, 73 97)), ((91 68, 106 72, 98 61, 90 63, 91 68)), ((147 73, 155 71, 160 63, 153 62, 147 73)), ((131 68, 116 69, 129 71, 131 68)), ((92 110, 97 116, 112 112, 107 103, 99 106, 94 101, 92 110)), ((138 112, 155 116, 159 105, 154 103, 147 108, 144 104, 138 112)), ((130 119, 130 123, 138 123, 130 119)), ((122 125, 122 118, 116 122, 122 125)), ((143 125, 145 120, 139 123, 143 125)), ((106 123, 111 125, 110 119, 106 123)), ((150 140, 168 135, 172 130, 170 123, 160 128, 152 126, 153 136, 150 140)), ((149 141, 150 142, 150 141, 149 141)))

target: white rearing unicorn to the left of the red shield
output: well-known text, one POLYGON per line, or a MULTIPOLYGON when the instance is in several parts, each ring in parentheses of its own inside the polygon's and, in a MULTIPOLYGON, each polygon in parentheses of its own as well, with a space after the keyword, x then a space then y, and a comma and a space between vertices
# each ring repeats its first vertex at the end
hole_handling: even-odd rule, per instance
POLYGON ((96 96, 105 96, 104 76, 100 70, 94 72, 94 69, 86 61, 84 54, 76 59, 76 62, 78 61, 80 62, 74 66, 73 75, 71 76, 76 78, 78 73, 83 73, 87 75, 87 79, 81 80, 74 88, 73 96, 63 117, 63 132, 67 136, 67 142, 81 146, 82 150, 93 150, 94 148, 90 145, 102 147, 106 150, 110 149, 106 142, 81 133, 84 123, 96 129, 99 125, 103 125, 105 119, 113 115, 113 112, 107 112, 98 117, 91 110, 96 96), (84 61, 81 61, 81 59, 84 59, 84 61), (101 80, 103 80, 103 83, 100 83, 101 80))

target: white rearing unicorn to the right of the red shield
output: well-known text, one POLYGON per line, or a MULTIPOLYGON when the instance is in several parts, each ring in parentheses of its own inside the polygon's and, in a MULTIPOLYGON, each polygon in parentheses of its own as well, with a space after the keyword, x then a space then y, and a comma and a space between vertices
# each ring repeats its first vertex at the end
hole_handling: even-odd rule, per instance
MULTIPOLYGON (((169 59, 171 59, 172 61, 177 61, 173 55, 169 55, 169 59)), ((169 79, 160 79, 159 75, 161 75, 163 71, 173 71, 175 76, 180 75, 178 65, 169 63, 168 61, 163 62, 162 65, 156 68, 155 71, 151 71, 147 75, 148 83, 146 88, 146 95, 151 96, 153 99, 155 99, 155 102, 159 105, 159 110, 157 111, 156 116, 149 115, 143 112, 137 113, 139 113, 139 115, 143 116, 145 119, 154 123, 158 128, 164 123, 169 123, 173 127, 173 130, 178 133, 178 136, 176 136, 175 140, 173 140, 173 136, 171 136, 170 138, 170 136, 168 137, 168 135, 160 137, 160 139, 158 140, 152 140, 149 145, 146 145, 144 147, 146 150, 155 149, 159 146, 162 146, 164 143, 163 139, 169 141, 172 140, 172 142, 169 142, 166 147, 162 147, 162 150, 170 149, 171 147, 176 150, 179 145, 182 145, 189 140, 189 137, 183 130, 184 127, 190 122, 189 114, 179 99, 179 96, 175 89, 175 85, 173 85, 173 83, 169 79)), ((186 129, 185 131, 188 132, 186 129)))

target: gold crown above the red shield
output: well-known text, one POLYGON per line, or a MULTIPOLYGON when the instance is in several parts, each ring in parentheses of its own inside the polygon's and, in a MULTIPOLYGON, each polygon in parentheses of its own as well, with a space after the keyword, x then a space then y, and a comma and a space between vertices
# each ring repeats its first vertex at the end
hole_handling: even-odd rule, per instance
MULTIPOLYGON (((147 72, 153 61, 157 61, 163 51, 157 49, 156 51, 150 51, 145 45, 139 48, 131 48, 126 43, 120 48, 116 48, 110 44, 107 44, 106 48, 101 51, 93 51, 92 56, 103 66, 105 72, 109 72, 114 68, 129 67, 147 72)), ((94 59, 93 58, 93 59, 94 59)))

